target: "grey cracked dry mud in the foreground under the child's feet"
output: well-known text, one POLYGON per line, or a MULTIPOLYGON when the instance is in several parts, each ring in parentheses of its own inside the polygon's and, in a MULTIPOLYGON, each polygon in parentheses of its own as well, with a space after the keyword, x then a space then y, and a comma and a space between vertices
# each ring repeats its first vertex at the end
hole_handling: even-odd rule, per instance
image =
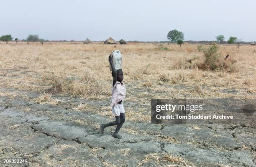
MULTIPOLYGON (((113 116, 73 110, 79 98, 59 96, 61 103, 38 104, 31 100, 38 97, 35 92, 1 91, 6 96, 0 96, 0 158, 29 161, 20 167, 256 167, 255 125, 126 120, 119 140, 111 137, 115 127, 99 133, 100 123, 113 116)), ((108 106, 108 100, 93 105, 108 106)))

